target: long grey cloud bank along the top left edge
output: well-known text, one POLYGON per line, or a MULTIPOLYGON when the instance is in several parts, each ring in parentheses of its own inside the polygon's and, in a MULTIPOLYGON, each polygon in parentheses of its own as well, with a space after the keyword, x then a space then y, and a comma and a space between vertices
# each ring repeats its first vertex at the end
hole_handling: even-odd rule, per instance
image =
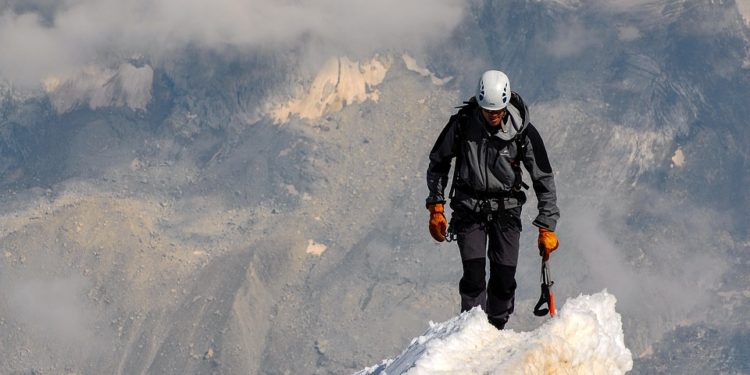
POLYGON ((0 2, 0 77, 35 84, 85 64, 159 60, 186 47, 284 49, 312 40, 342 53, 409 48, 445 36, 457 0, 69 0, 0 2))

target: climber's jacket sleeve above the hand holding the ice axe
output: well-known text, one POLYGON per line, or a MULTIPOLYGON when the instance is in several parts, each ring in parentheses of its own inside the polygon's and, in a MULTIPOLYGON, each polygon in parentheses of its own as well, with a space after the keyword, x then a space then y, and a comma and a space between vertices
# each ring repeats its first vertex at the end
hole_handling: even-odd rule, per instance
POLYGON ((531 175, 532 186, 538 201, 539 214, 533 224, 551 231, 557 226, 560 209, 557 207, 555 176, 547 157, 547 150, 539 131, 532 124, 526 128, 526 154, 523 165, 531 175))

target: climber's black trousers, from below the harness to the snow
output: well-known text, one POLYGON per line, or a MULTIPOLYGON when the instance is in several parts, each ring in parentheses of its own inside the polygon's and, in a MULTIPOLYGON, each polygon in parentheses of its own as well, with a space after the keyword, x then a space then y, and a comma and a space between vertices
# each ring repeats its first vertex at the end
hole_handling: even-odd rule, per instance
POLYGON ((521 237, 520 207, 484 221, 471 213, 454 212, 454 232, 461 252, 459 282, 461 311, 481 306, 495 327, 502 329, 513 313, 516 266, 521 237), (489 259, 490 277, 486 280, 489 259))

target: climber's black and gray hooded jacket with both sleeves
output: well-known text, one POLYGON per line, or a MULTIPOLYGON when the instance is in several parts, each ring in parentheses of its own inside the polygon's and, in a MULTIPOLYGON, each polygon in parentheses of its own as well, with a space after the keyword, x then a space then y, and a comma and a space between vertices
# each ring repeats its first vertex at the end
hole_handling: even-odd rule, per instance
POLYGON ((539 214, 533 224, 555 230, 560 210, 557 208, 555 179, 542 137, 529 122, 529 111, 517 93, 512 93, 508 114, 497 129, 490 128, 476 101, 470 100, 451 116, 430 152, 427 168, 427 204, 445 203, 451 160, 456 158, 454 176, 455 210, 479 212, 481 203, 493 201, 500 209, 523 205, 521 168, 531 176, 539 201, 539 214), (520 137, 520 138, 517 138, 520 137), (521 149, 522 155, 519 155, 521 149))

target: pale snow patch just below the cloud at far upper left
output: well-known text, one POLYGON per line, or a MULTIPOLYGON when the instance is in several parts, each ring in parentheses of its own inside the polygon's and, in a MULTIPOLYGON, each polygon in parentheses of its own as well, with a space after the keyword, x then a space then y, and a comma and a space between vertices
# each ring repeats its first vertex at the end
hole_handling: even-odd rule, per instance
POLYGON ((154 70, 123 63, 117 69, 88 67, 71 77, 51 76, 42 82, 57 113, 81 106, 145 110, 151 101, 154 70))

